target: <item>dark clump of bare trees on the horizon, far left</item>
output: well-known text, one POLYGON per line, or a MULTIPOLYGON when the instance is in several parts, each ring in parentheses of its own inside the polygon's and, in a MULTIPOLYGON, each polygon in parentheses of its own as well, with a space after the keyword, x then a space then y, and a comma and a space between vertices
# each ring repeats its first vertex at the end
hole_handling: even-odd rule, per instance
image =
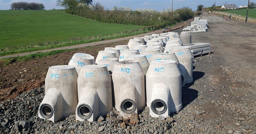
POLYGON ((11 9, 13 10, 43 10, 45 9, 42 3, 27 3, 27 2, 14 2, 11 4, 11 9))

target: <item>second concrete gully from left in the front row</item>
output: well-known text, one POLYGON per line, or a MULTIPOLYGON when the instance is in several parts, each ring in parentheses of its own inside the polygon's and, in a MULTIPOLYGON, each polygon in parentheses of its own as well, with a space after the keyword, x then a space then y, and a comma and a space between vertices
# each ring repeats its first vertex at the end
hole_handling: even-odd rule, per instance
POLYGON ((87 65, 77 79, 76 120, 96 121, 112 109, 112 83, 106 65, 87 65))

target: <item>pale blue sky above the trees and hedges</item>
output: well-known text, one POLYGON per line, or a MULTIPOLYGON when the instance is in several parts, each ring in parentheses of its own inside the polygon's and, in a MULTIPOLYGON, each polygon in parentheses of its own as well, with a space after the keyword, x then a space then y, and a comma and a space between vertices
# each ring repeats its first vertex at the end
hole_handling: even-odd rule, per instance
MULTIPOLYGON (((43 3, 46 10, 50 9, 63 9, 63 7, 56 6, 56 0, 0 0, 0 10, 9 10, 10 5, 13 2, 36 2, 43 3)), ((241 5, 247 5, 248 0, 173 0, 173 8, 178 9, 184 6, 192 8, 193 11, 197 9, 198 5, 204 5, 204 7, 210 7, 216 2, 216 6, 228 4, 236 4, 237 7, 241 5)), ((93 0, 93 3, 99 2, 104 5, 105 9, 112 9, 114 6, 130 7, 132 10, 138 8, 150 8, 161 11, 172 7, 172 0, 93 0)), ((256 0, 250 0, 255 2, 256 0)))

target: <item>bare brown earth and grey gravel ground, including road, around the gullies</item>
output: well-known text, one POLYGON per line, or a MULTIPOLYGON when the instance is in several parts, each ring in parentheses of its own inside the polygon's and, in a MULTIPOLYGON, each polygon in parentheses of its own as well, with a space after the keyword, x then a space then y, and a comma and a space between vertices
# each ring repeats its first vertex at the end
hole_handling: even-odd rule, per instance
POLYGON ((48 67, 66 65, 76 52, 96 57, 105 47, 128 43, 122 41, 1 66, 0 133, 256 134, 256 25, 212 14, 202 19, 209 29, 192 33, 192 43, 211 43, 211 54, 194 57, 182 110, 167 118, 151 118, 147 107, 128 119, 115 109, 95 122, 75 121, 74 115, 57 123, 38 118, 48 67))

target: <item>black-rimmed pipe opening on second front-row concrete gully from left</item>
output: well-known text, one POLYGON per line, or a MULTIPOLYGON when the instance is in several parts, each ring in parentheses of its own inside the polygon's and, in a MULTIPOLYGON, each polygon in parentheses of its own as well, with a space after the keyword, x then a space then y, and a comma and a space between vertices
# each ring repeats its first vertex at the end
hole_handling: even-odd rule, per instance
POLYGON ((82 119, 89 119, 92 116, 92 109, 88 105, 81 105, 78 108, 78 116, 82 119))

